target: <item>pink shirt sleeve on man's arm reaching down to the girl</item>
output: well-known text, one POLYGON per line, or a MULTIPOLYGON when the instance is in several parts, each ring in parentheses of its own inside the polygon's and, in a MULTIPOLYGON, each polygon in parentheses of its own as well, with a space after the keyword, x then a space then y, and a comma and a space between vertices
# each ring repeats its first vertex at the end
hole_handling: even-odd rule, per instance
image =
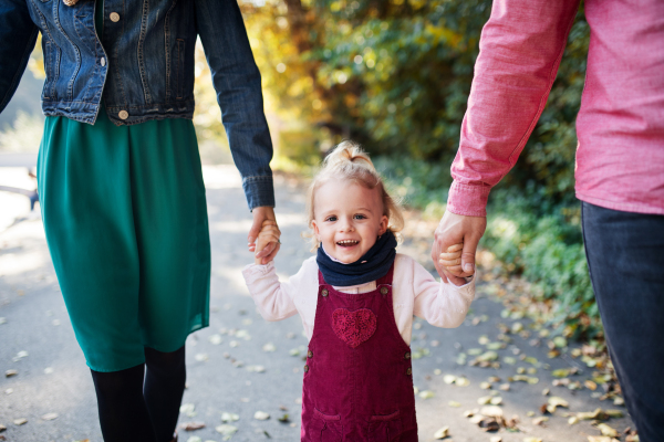
POLYGON ((579 0, 495 0, 452 165, 447 209, 486 217, 542 113, 579 0))

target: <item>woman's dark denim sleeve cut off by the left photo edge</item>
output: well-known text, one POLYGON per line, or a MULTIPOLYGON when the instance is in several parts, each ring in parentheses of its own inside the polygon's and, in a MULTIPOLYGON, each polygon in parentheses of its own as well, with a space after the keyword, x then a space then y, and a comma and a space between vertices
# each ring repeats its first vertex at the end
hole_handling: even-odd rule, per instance
POLYGON ((19 87, 38 32, 25 0, 0 2, 0 113, 19 87))

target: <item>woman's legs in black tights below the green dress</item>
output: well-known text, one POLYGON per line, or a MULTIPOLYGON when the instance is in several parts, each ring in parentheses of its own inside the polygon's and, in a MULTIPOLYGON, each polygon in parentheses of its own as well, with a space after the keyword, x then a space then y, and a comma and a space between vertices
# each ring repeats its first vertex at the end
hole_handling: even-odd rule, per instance
POLYGON ((187 377, 184 346, 173 352, 146 347, 145 365, 91 371, 105 442, 173 439, 187 377))

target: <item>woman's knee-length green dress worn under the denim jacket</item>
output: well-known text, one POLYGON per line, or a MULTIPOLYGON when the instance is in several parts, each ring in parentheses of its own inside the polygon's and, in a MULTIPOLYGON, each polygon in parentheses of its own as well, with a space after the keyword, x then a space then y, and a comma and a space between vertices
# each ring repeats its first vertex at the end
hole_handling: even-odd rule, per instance
MULTIPOLYGON (((103 14, 97 0, 97 29, 103 14)), ((94 126, 46 117, 38 182, 46 241, 87 366, 117 371, 208 326, 210 243, 191 120, 94 126)))

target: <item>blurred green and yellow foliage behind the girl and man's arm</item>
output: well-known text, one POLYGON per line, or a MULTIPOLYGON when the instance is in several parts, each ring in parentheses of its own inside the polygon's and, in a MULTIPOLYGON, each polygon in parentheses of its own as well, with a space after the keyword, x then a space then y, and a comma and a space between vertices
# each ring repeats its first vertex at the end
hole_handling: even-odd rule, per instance
MULTIPOLYGON (((315 148, 283 143, 282 155, 310 164, 325 143, 353 138, 384 157, 376 164, 406 203, 439 217, 491 1, 256 4, 242 9, 266 91, 284 119, 319 134, 315 148)), ((599 315, 573 191, 588 43, 581 8, 548 105, 521 159, 491 193, 484 244, 537 283, 538 296, 554 301, 560 324, 592 334, 599 315)))

